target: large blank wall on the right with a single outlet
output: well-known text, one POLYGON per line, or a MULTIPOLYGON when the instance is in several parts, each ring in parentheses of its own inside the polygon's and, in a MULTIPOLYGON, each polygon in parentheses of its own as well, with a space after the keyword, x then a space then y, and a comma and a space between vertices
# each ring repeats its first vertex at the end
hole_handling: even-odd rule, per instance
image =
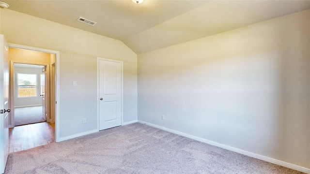
POLYGON ((309 169, 309 19, 138 55, 138 120, 309 169))

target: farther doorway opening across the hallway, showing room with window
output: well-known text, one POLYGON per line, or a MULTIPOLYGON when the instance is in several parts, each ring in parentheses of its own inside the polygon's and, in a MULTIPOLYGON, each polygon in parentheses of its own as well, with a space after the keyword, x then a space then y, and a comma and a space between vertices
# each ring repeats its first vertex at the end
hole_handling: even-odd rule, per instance
POLYGON ((14 63, 15 126, 47 121, 46 65, 14 63))

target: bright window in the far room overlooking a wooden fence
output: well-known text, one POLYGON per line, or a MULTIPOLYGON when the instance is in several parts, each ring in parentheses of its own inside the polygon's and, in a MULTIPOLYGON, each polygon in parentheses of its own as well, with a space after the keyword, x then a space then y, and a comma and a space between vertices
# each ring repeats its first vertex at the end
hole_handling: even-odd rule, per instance
POLYGON ((37 74, 17 73, 18 97, 37 96, 37 74))

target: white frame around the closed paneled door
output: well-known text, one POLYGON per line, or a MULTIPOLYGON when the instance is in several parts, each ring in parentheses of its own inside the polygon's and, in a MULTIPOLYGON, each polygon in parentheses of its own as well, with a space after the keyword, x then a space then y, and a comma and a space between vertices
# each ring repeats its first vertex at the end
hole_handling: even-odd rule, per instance
POLYGON ((99 131, 99 60, 106 60, 106 61, 111 61, 111 62, 118 62, 121 63, 121 76, 122 76, 122 84, 121 84, 121 92, 122 92, 122 102, 121 102, 121 117, 122 117, 122 121, 121 121, 121 125, 123 125, 124 119, 123 119, 123 61, 120 60, 113 60, 113 59, 109 59, 109 58, 99 58, 97 57, 97 130, 99 131))

